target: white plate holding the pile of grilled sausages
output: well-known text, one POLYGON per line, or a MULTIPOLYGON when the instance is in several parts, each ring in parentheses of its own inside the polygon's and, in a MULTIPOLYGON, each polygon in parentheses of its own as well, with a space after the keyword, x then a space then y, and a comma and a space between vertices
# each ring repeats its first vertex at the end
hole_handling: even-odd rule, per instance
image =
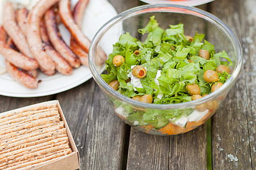
MULTIPOLYGON (((72 5, 74 6, 77 1, 78 0, 72 0, 72 5)), ((82 31, 90 40, 92 40, 98 29, 100 29, 103 24, 105 24, 115 15, 117 15, 117 12, 108 1, 91 0, 85 11, 82 31)), ((69 44, 70 34, 64 25, 60 25, 60 32, 61 35, 63 35, 63 39, 67 42, 67 44, 69 44)), ((118 39, 118 37, 111 37, 111 39, 112 38, 115 40, 118 39)), ((104 46, 106 44, 101 45, 104 46)), ((111 51, 112 49, 110 47, 109 52, 106 53, 109 54, 111 51)), ((0 68, 1 67, 5 68, 5 59, 0 54, 0 68)), ((15 82, 15 80, 11 78, 8 73, 5 73, 0 75, 0 95, 11 97, 47 96, 79 86, 90 78, 92 78, 92 74, 90 73, 89 67, 85 66, 80 66, 79 69, 74 69, 73 74, 69 76, 59 73, 47 76, 39 71, 37 80, 42 80, 42 82, 39 83, 38 88, 28 89, 15 82)))

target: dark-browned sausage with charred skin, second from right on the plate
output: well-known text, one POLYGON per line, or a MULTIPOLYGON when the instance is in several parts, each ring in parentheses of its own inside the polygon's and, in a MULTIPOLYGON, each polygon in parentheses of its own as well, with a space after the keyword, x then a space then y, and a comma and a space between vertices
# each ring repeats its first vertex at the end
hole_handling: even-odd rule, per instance
POLYGON ((44 14, 44 20, 46 22, 46 29, 49 40, 52 42, 54 48, 61 54, 61 56, 63 56, 63 58, 67 60, 67 62, 72 67, 78 68, 81 63, 76 57, 76 54, 72 52, 69 46, 62 39, 53 8, 49 9, 46 14, 44 14))

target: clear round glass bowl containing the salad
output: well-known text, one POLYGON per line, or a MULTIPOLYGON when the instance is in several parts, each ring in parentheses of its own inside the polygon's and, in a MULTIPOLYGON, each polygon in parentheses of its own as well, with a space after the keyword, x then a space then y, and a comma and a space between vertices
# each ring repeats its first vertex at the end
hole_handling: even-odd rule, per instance
POLYGON ((106 100, 109 101, 113 112, 135 129, 155 135, 181 134, 204 124, 216 112, 236 82, 241 66, 241 45, 233 31, 216 16, 188 6, 144 5, 131 8, 102 26, 94 36, 89 49, 89 67, 93 78, 100 86, 106 100), (230 78, 217 91, 201 99, 178 104, 142 103, 121 95, 110 87, 101 77, 105 65, 98 65, 99 46, 109 55, 113 51, 113 44, 118 42, 119 37, 126 32, 144 41, 145 36, 139 34, 138 29, 144 28, 152 15, 155 16, 159 27, 163 29, 168 28, 170 24, 183 23, 185 35, 193 36, 196 31, 204 33, 205 40, 215 46, 216 53, 225 50, 232 59, 230 78), (210 107, 204 107, 205 105, 210 107), (135 115, 134 113, 137 117, 129 118, 129 115, 135 115), (154 125, 158 126, 142 121, 148 117, 152 119, 154 125), (166 118, 168 121, 161 121, 166 118))

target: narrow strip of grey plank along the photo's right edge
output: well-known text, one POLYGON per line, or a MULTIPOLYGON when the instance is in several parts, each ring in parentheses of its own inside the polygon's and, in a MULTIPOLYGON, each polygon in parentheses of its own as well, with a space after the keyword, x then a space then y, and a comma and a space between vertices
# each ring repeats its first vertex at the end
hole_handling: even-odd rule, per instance
POLYGON ((256 2, 240 1, 242 48, 247 99, 247 126, 251 152, 251 167, 256 167, 256 2), (244 12, 246 11, 246 12, 244 12))

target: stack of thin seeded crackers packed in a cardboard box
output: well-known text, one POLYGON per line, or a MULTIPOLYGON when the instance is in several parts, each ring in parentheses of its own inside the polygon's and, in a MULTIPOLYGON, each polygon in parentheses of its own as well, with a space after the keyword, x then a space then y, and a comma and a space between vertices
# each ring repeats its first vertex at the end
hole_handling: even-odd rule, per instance
POLYGON ((57 104, 0 114, 0 169, 33 169, 71 153, 57 104))

